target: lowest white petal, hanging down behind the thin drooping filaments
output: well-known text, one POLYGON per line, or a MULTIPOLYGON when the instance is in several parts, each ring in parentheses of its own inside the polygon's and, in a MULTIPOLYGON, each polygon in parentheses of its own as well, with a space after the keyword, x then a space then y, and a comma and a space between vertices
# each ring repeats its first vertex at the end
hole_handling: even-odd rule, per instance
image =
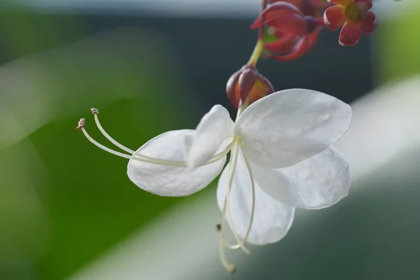
MULTIPOLYGON (((217 201, 222 211, 228 186, 229 167, 230 164, 223 170, 218 181, 217 201)), ((252 191, 250 182, 244 160, 239 156, 237 172, 230 190, 230 207, 235 230, 241 238, 246 235, 251 218, 252 191)), ((255 183, 255 214, 248 243, 264 245, 279 241, 287 234, 294 215, 295 209, 293 207, 269 197, 255 183)), ((228 212, 226 220, 230 221, 228 212)))

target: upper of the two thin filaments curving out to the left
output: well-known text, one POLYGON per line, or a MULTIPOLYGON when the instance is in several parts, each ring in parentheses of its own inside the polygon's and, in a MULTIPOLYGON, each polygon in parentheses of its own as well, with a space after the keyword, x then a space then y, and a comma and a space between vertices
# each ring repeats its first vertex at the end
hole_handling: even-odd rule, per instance
MULTIPOLYGON (((160 165, 167 165, 167 166, 172 166, 172 165, 182 165, 182 167, 184 167, 183 165, 186 165, 186 162, 184 162, 184 161, 181 161, 181 160, 164 160, 164 159, 160 159, 160 158, 153 158, 153 157, 151 157, 151 156, 148 156, 148 155, 143 155, 143 154, 141 154, 141 153, 139 153, 139 152, 136 152, 136 151, 133 151, 132 149, 130 149, 130 148, 127 148, 126 146, 124 146, 124 145, 122 145, 122 144, 120 144, 120 143, 118 143, 118 141, 116 141, 115 139, 113 139, 105 130, 104 130, 104 127, 102 127, 102 125, 101 125, 101 123, 99 122, 99 117, 98 117, 98 115, 99 115, 99 111, 97 110, 97 109, 94 109, 94 108, 92 108, 91 109, 91 111, 92 111, 92 113, 93 113, 93 115, 94 115, 94 122, 96 123, 96 125, 97 125, 97 127, 98 127, 98 129, 99 129, 99 131, 102 133, 102 135, 104 135, 104 137, 106 138, 106 139, 108 139, 112 144, 114 144, 115 146, 117 146, 118 148, 120 148, 121 150, 123 150, 123 151, 125 151, 125 152, 127 152, 127 153, 130 153, 130 155, 134 155, 134 156, 137 156, 137 157, 139 157, 139 158, 144 158, 144 159, 146 159, 146 160, 150 160, 150 161, 155 161, 155 162, 158 162, 157 164, 160 164, 160 165)), ((233 142, 233 141, 232 141, 233 142)), ((212 160, 215 160, 215 159, 218 159, 218 160, 220 160, 221 158, 223 158, 223 156, 225 156, 225 155, 227 155, 228 154, 228 152, 230 151, 230 146, 232 146, 232 144, 233 143, 230 143, 229 145, 228 145, 228 147, 226 147, 225 148, 225 150, 224 151, 222 151, 221 153, 216 153, 210 160, 209 160, 209 162, 210 163, 213 163, 214 161, 212 161, 212 160), (226 150, 229 150, 227 153, 225 153, 225 151, 226 150)), ((99 147, 99 148, 101 148, 101 147, 99 147)), ((106 150, 107 151, 107 150, 106 150)), ((206 162, 207 163, 207 162, 206 162)), ((209 164, 209 163, 207 163, 207 164, 209 164)))

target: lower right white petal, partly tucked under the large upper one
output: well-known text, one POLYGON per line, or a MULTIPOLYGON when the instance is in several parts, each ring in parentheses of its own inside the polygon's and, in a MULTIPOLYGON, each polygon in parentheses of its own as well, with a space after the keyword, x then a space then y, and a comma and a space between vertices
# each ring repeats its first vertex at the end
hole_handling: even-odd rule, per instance
POLYGON ((282 169, 253 165, 255 181, 262 190, 293 207, 330 207, 347 195, 350 169, 344 155, 335 147, 282 169))

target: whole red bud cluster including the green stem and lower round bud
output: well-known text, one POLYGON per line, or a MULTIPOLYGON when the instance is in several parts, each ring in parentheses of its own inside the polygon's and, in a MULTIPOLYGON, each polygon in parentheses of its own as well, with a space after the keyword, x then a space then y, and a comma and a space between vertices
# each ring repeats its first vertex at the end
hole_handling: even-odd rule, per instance
POLYGON ((262 50, 281 62, 298 59, 314 48, 324 26, 332 31, 342 27, 339 43, 355 45, 362 33, 376 27, 370 8, 372 0, 262 0, 261 13, 251 25, 258 29, 258 43, 248 64, 228 80, 230 102, 238 109, 274 92, 255 68, 262 50))

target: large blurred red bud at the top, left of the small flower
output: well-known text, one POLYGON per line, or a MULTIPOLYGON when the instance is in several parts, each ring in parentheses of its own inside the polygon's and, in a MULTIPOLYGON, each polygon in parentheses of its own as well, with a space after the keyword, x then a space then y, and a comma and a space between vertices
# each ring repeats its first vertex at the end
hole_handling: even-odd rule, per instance
MULTIPOLYGON (((304 0, 299 3, 303 3, 302 1, 304 0)), ((318 32, 323 27, 323 19, 304 15, 296 6, 286 1, 276 1, 262 11, 251 28, 259 28, 261 24, 271 27, 272 35, 277 38, 265 44, 264 48, 271 52, 268 56, 279 61, 290 61, 302 57, 314 47, 318 32)))

